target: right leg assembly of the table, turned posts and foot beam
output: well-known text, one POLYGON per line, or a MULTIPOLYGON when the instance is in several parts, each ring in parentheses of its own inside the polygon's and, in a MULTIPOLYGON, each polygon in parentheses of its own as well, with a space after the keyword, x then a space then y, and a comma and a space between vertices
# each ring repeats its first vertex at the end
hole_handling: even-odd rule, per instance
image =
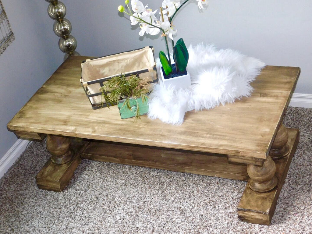
MULTIPOLYGON (((283 128, 284 126, 280 127, 282 130, 279 130, 280 134, 277 134, 275 140, 285 139, 283 128), (281 137, 283 135, 284 137, 281 137)), ((299 142, 299 131, 297 129, 286 129, 286 131, 288 141, 285 143, 284 140, 284 144, 279 143, 279 147, 276 147, 276 149, 281 149, 285 144, 288 144, 290 147, 288 154, 274 161, 268 156, 262 167, 247 165, 247 173, 250 179, 237 207, 240 220, 270 225, 280 190, 283 187, 291 159, 299 142)), ((281 142, 281 140, 276 142, 281 142)), ((275 143, 276 145, 277 143, 275 143)))

